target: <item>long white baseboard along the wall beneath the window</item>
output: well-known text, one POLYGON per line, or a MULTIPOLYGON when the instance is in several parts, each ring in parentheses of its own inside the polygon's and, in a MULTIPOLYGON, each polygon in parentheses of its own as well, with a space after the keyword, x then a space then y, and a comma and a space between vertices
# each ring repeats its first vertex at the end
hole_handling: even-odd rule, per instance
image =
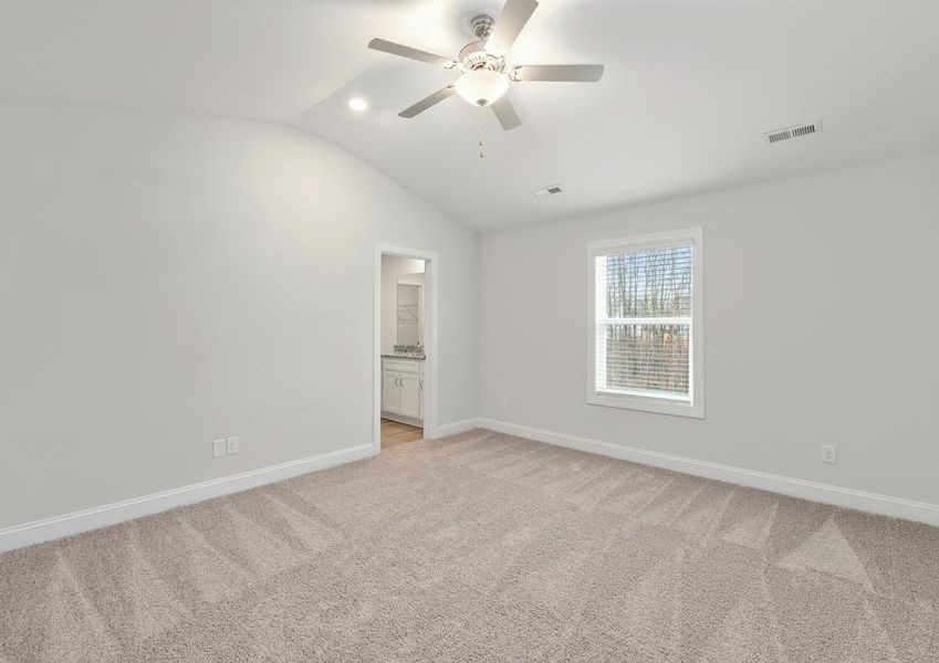
POLYGON ((917 502, 915 499, 907 499, 904 497, 868 493, 865 491, 857 491, 855 488, 846 488, 814 481, 793 478, 791 476, 781 476, 779 474, 769 474, 766 472, 758 472, 754 470, 743 470, 742 467, 733 467, 731 465, 722 465, 720 463, 711 463, 709 461, 698 461, 668 453, 659 453, 657 451, 636 449, 635 446, 626 446, 623 444, 613 444, 611 442, 603 442, 591 438, 580 438, 565 433, 556 433, 526 425, 497 421, 494 419, 480 418, 477 420, 477 423, 479 428, 510 435, 518 435, 519 438, 528 438, 539 442, 547 442, 549 444, 556 444, 559 446, 566 446, 570 449, 586 451, 588 453, 612 456, 614 459, 632 461, 644 465, 653 465, 665 470, 674 470, 676 472, 702 476, 705 478, 713 478, 752 488, 781 493, 783 495, 801 497, 802 499, 811 499, 823 504, 831 504, 844 508, 854 508, 883 516, 905 518, 907 520, 917 520, 919 523, 939 526, 939 504, 929 504, 927 502, 917 502))

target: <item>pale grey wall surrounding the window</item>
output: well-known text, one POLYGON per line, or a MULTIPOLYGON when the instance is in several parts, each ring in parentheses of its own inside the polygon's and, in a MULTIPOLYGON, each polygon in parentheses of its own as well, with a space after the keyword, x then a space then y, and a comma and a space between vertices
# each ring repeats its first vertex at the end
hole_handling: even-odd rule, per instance
POLYGON ((937 246, 939 155, 484 235, 480 415, 937 504, 937 246), (587 406, 585 243, 696 225, 707 419, 587 406))

